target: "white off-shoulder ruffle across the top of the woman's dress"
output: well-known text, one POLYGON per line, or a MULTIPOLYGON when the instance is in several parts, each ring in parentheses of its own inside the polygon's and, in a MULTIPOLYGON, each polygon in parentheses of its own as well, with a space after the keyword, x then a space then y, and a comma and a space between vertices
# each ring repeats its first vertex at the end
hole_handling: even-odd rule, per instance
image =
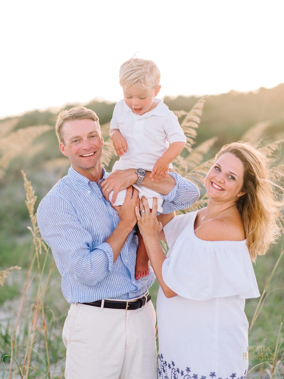
POLYGON ((169 235, 170 240, 168 257, 162 266, 167 286, 192 300, 260 296, 246 240, 200 240, 194 234, 194 214, 176 216, 164 228, 166 239, 169 235))

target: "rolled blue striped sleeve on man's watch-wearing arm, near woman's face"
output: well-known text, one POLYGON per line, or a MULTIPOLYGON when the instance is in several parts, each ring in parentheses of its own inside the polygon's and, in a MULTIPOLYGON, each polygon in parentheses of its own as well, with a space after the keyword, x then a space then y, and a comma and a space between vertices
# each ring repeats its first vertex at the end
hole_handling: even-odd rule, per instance
POLYGON ((163 213, 171 213, 177 209, 186 209, 192 206, 200 196, 197 185, 185 179, 176 172, 169 172, 176 185, 167 195, 161 195, 164 199, 163 213))

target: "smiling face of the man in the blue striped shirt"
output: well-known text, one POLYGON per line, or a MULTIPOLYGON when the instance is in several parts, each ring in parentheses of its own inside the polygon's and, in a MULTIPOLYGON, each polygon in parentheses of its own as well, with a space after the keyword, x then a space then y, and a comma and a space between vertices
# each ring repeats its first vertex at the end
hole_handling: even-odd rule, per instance
POLYGON ((76 171, 86 176, 89 170, 101 170, 103 137, 96 121, 89 119, 66 121, 62 132, 64 144, 59 144, 60 150, 69 158, 76 171))

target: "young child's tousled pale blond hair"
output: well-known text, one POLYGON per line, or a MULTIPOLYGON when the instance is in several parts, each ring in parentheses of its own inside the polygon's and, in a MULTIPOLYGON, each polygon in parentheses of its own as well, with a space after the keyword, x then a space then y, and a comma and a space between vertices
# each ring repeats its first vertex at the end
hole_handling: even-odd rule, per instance
POLYGON ((160 70, 153 61, 130 58, 120 66, 119 84, 125 88, 135 85, 151 90, 160 84, 160 79, 160 70))

